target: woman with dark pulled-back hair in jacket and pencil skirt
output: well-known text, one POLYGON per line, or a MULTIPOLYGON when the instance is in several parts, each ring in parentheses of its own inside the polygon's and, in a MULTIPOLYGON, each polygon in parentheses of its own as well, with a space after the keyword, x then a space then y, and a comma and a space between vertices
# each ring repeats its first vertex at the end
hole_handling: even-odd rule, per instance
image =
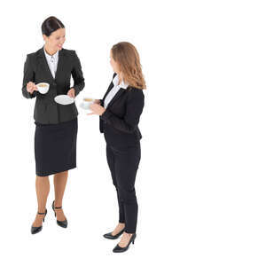
POLYGON ((24 65, 22 94, 35 100, 35 188, 38 212, 31 232, 43 228, 47 214, 46 200, 50 191, 49 176, 54 175, 55 200, 52 209, 59 226, 66 228, 62 210, 68 170, 76 167, 77 109, 73 104, 59 105, 54 98, 67 94, 74 98, 84 88, 82 66, 75 51, 63 49, 66 30, 55 17, 43 21, 44 46, 27 55, 24 65), (71 75, 74 86, 70 88, 71 75), (36 83, 47 82, 46 94, 38 92, 36 83))

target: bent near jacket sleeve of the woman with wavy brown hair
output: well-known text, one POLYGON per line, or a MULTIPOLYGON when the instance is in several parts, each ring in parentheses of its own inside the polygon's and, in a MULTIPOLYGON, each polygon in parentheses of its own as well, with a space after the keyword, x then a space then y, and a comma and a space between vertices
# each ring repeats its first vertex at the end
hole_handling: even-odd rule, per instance
POLYGON ((100 119, 113 126, 114 129, 121 130, 125 133, 132 133, 137 128, 140 115, 145 104, 145 96, 142 90, 131 89, 129 98, 126 103, 126 114, 123 118, 116 116, 108 108, 100 119))

